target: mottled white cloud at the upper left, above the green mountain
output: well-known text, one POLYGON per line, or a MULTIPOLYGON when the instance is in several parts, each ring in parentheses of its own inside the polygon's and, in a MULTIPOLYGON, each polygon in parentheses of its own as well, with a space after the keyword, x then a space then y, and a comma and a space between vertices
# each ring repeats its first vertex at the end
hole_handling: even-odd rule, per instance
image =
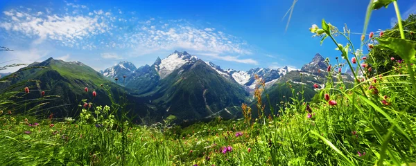
POLYGON ((4 18, 0 21, 0 29, 4 28, 34 38, 36 44, 51 39, 69 47, 76 47, 77 44, 88 45, 83 43, 85 41, 83 39, 106 33, 110 29, 105 18, 68 14, 41 16, 40 12, 17 12, 17 10, 3 13, 11 20, 4 18))

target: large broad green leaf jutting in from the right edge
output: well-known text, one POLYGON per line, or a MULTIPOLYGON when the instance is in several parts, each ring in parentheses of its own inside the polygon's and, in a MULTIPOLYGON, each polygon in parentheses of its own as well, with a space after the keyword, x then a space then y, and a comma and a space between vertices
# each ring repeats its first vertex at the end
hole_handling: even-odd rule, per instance
POLYGON ((382 37, 376 39, 379 44, 376 47, 392 50, 407 62, 415 62, 415 42, 406 39, 382 37))

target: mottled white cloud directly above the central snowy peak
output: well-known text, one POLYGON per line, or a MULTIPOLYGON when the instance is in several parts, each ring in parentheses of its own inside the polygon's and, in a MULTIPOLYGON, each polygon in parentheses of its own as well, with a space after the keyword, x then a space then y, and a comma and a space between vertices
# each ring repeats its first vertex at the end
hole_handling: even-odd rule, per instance
MULTIPOLYGON (((251 54, 248 45, 241 39, 226 33, 215 33, 205 29, 196 28, 187 21, 171 20, 167 23, 146 22, 137 32, 128 36, 128 41, 137 50, 184 50, 201 53, 216 53, 217 55, 247 55, 251 54), (148 25, 149 24, 149 25, 148 25)), ((234 56, 233 55, 233 56, 234 56)), ((232 56, 232 57, 233 57, 232 56)), ((227 59, 232 59, 227 57, 227 59)), ((235 57, 235 56, 234 56, 235 57)), ((225 60, 226 58, 224 58, 225 60)), ((236 59, 234 59, 236 61, 236 59)), ((245 63, 254 63, 245 61, 245 63)))

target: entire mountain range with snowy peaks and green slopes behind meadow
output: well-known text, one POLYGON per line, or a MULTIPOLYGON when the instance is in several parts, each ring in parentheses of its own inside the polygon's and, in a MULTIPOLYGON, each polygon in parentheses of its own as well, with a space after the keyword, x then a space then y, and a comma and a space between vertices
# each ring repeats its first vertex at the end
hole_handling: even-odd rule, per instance
MULTIPOLYGON (((313 84, 324 86, 327 64, 321 55, 316 54, 312 62, 305 64, 301 70, 287 66, 276 69, 252 68, 248 71, 223 70, 186 51, 175 50, 164 59, 157 57, 152 65, 139 68, 131 62, 119 62, 97 72, 80 62, 64 62, 52 58, 35 62, 26 68, 30 69, 21 68, 13 74, 15 77, 1 78, 0 80, 10 82, 1 85, 0 91, 19 82, 40 80, 40 84, 26 82, 24 86, 60 96, 49 104, 48 109, 58 116, 76 116, 79 111, 74 110, 77 110, 78 103, 83 98, 94 100, 95 104, 110 104, 110 97, 100 87, 105 84, 111 89, 112 98, 118 98, 120 91, 126 94, 130 112, 141 119, 146 118, 141 122, 158 121, 171 115, 178 122, 183 122, 214 116, 241 117, 242 103, 255 106, 252 102, 252 91, 257 84, 254 75, 265 81, 272 103, 291 97, 288 82, 293 84, 296 91, 304 86, 304 96, 306 100, 311 100, 317 90, 313 89, 313 84), (44 68, 32 68, 33 66, 44 68), (91 95, 83 93, 84 87, 96 91, 98 97, 93 99, 91 95)), ((343 74, 343 77, 350 76, 343 74)), ((31 95, 33 98, 37 96, 35 93, 31 95)))

